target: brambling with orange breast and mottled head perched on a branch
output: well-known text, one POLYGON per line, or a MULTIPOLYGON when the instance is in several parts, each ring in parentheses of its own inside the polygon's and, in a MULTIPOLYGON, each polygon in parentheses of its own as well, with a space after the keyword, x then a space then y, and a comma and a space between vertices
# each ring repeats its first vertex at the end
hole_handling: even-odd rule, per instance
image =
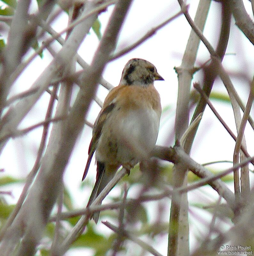
MULTIPOLYGON (((96 151, 97 176, 87 206, 99 195, 123 166, 128 171, 155 147, 161 118, 160 95, 155 80, 164 80, 155 66, 142 59, 131 59, 124 67, 120 84, 107 95, 94 123, 86 177, 96 151)), ((98 222, 99 212, 92 218, 98 222)))

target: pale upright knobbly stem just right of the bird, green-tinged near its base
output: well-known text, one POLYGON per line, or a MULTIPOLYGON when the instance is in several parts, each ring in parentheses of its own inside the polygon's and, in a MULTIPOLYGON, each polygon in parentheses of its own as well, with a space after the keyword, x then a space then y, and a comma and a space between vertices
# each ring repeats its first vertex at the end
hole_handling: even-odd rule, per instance
MULTIPOLYGON (((184 8, 183 1, 178 1, 181 8, 184 8)), ((204 29, 208 10, 210 8, 209 1, 200 1, 195 15, 195 28, 198 31, 204 29)), ((184 15, 188 16, 188 11, 183 10, 184 15)), ((194 23, 193 22, 193 23, 194 23)), ((200 38, 195 34, 196 31, 191 30, 188 39, 187 47, 183 56, 181 66, 175 70, 178 73, 179 90, 176 109, 176 140, 184 135, 189 125, 189 100, 190 86, 193 77, 194 62, 196 59, 197 50, 200 43, 200 38)), ((202 34, 202 32, 201 32, 202 34)), ((186 141, 185 141, 186 142, 186 141)), ((183 145, 186 148, 185 145, 183 145)), ((187 185, 187 169, 181 163, 176 164, 173 169, 174 187, 178 188, 187 185)), ((168 256, 169 255, 188 255, 189 254, 189 224, 188 224, 188 200, 187 194, 172 196, 170 223, 169 223, 169 238, 168 238, 168 256)))

